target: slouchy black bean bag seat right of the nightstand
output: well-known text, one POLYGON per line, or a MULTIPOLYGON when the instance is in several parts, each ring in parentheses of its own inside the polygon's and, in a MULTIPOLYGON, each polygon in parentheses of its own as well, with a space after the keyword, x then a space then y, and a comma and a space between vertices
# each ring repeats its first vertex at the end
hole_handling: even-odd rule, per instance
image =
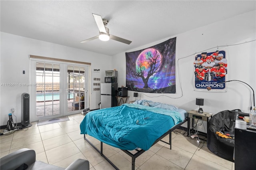
POLYGON ((233 136, 235 133, 235 121, 236 111, 221 111, 212 116, 209 121, 209 129, 207 129, 207 148, 212 153, 232 162, 234 162, 235 140, 218 136, 216 132, 223 132, 233 136))

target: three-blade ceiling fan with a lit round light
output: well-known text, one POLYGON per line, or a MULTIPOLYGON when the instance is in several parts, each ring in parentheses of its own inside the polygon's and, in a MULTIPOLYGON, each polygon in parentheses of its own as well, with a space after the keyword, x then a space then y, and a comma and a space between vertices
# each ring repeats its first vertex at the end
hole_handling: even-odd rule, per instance
POLYGON ((108 41, 109 39, 111 40, 116 40, 118 42, 122 42, 122 43, 126 43, 126 44, 130 44, 131 41, 130 40, 126 40, 124 38, 120 38, 117 36, 113 36, 109 34, 109 29, 106 27, 108 25, 108 20, 106 19, 102 19, 100 15, 97 14, 92 14, 92 16, 94 17, 94 20, 100 30, 100 35, 89 38, 87 40, 82 41, 81 43, 85 43, 85 42, 89 42, 91 40, 97 39, 99 38, 102 41, 108 41))

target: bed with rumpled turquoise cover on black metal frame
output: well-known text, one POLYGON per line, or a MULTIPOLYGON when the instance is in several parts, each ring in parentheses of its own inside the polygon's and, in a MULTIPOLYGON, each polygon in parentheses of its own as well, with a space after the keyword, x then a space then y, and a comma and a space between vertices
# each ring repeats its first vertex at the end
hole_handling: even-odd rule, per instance
MULTIPOLYGON (((138 100, 131 104, 123 104, 90 111, 80 124, 81 134, 115 169, 118 169, 104 154, 102 143, 120 148, 132 157, 132 170, 135 159, 151 146, 169 134, 171 149, 171 132, 187 121, 186 111, 173 105, 138 100), (100 140, 100 150, 96 148, 86 135, 100 140), (136 150, 135 154, 130 152, 136 150)), ((133 152, 134 153, 134 152, 133 152)))

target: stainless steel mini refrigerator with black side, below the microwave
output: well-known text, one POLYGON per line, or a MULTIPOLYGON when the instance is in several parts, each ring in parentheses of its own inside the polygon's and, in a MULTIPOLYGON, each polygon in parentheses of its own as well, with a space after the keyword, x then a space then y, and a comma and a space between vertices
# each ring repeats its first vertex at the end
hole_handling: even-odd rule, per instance
POLYGON ((117 93, 117 83, 100 83, 100 108, 104 109, 117 106, 117 93))

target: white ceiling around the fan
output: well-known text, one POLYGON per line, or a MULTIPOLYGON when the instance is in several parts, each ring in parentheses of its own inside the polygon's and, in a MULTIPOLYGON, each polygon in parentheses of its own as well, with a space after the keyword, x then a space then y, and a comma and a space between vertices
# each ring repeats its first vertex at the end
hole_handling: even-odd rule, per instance
POLYGON ((256 10, 256 1, 1 0, 0 7, 1 32, 115 55, 256 10), (80 43, 99 34, 92 13, 109 20, 110 34, 132 43, 80 43))

